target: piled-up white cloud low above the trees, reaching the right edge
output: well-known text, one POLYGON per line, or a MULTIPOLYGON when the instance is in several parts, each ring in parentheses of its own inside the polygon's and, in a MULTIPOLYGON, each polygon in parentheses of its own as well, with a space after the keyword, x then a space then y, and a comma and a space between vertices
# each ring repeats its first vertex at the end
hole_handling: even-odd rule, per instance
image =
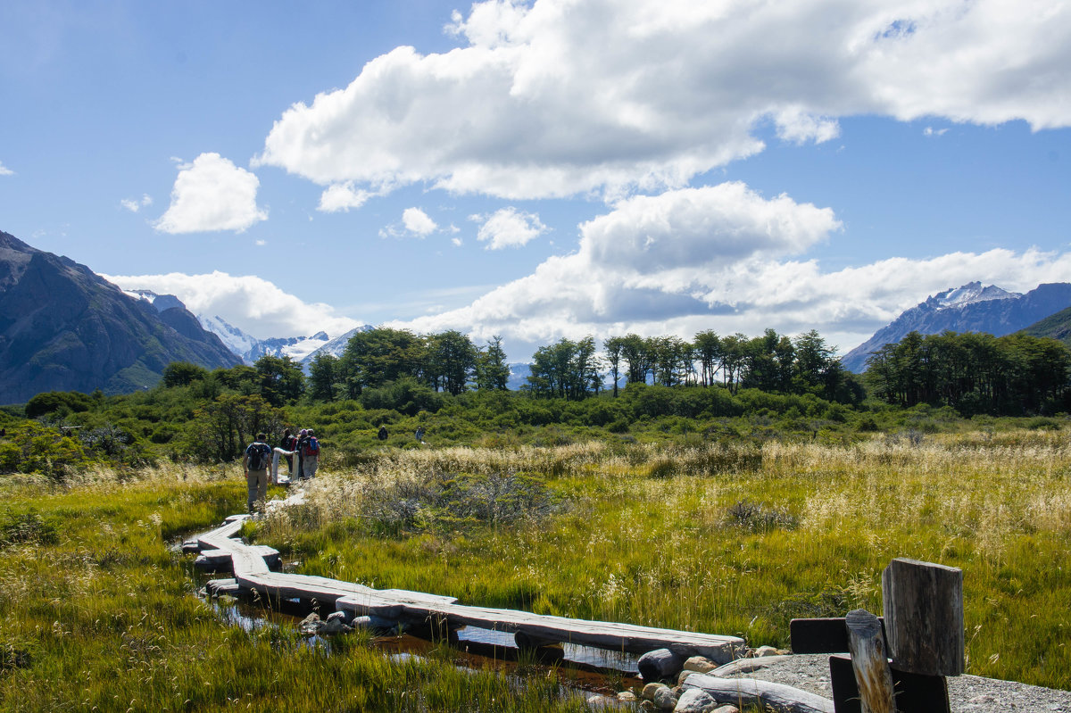
POLYGON ((981 279, 1025 291, 1071 270, 1071 253, 993 249, 824 272, 800 256, 840 230, 833 212, 763 198, 739 183, 634 197, 579 229, 576 253, 552 257, 466 307, 396 324, 501 334, 517 356, 562 336, 757 335, 766 328, 817 329, 848 351, 950 287, 981 279))

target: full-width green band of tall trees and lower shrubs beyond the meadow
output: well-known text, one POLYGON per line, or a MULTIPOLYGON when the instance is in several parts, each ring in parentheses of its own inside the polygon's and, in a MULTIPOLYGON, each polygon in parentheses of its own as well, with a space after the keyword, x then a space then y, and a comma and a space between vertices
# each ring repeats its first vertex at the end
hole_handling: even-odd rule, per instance
POLYGON ((377 442, 380 425, 406 445, 411 437, 401 434, 417 424, 451 443, 559 442, 567 431, 839 439, 881 424, 929 428, 931 413, 1027 415, 1050 427, 1045 416, 1071 411, 1071 352, 1024 334, 914 333, 875 352, 862 378, 814 331, 704 331, 691 340, 627 334, 601 346, 586 336, 537 349, 519 391, 507 390, 500 337, 477 346, 456 331, 361 332, 340 356, 316 356, 307 375, 288 356, 211 371, 172 363, 152 390, 47 392, 0 409, 9 433, 0 472, 56 475, 87 459, 137 464, 160 454, 227 461, 259 430, 277 436, 299 422, 316 424, 332 447, 359 453, 377 442))

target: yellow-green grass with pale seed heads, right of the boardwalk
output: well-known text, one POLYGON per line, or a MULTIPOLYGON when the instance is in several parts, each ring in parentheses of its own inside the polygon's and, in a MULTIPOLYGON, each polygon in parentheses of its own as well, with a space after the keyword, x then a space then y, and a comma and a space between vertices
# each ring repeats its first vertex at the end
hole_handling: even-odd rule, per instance
POLYGON ((1071 688, 1065 440, 395 453, 321 481, 258 536, 310 574, 755 647, 787 647, 794 617, 880 612, 893 558, 939 562, 964 571, 968 672, 1071 688), (458 475, 503 471, 540 477, 557 505, 508 521, 441 512, 458 475))

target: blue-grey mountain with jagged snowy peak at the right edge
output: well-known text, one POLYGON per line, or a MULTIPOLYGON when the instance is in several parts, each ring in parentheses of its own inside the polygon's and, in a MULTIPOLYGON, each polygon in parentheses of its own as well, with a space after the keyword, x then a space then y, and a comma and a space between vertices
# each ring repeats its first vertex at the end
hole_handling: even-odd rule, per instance
POLYGON ((968 283, 930 297, 905 310, 874 336, 841 358, 850 371, 866 369, 871 352, 895 344, 910 332, 940 334, 989 332, 1004 336, 1029 327, 1038 320, 1071 306, 1071 284, 1047 283, 1026 294, 1009 292, 995 285, 982 287, 968 283))

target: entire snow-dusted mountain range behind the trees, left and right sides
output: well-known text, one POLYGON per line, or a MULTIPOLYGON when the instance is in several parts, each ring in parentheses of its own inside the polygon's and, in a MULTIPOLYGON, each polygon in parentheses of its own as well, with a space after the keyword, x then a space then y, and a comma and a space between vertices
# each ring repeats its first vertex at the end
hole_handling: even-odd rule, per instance
MULTIPOLYGON (((154 385, 171 362, 207 368, 253 364, 263 354, 306 367, 318 353, 338 356, 358 327, 331 337, 259 339, 220 316, 194 315, 175 295, 123 291, 73 260, 0 231, 0 404, 44 391, 125 393, 154 385)), ((842 358, 862 371, 870 353, 906 334, 1026 331, 1071 346, 1071 284, 1039 285, 1024 294, 975 282, 927 298, 842 358)), ((510 389, 530 373, 509 364, 510 389)))

